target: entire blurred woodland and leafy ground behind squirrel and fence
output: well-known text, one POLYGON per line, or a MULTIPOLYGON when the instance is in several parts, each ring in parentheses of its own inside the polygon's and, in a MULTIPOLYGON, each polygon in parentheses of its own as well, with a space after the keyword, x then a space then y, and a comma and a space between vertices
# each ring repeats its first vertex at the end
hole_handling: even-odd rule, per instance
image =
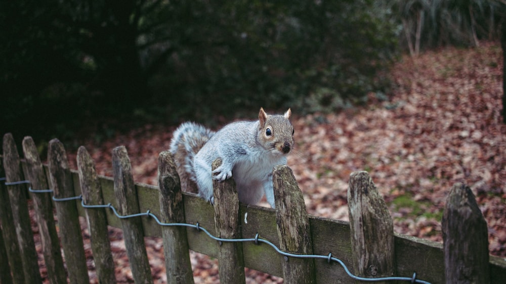
MULTIPOLYGON (((182 121, 290 107, 308 213, 348 220, 363 169, 396 232, 442 242, 464 182, 503 258, 505 19, 506 0, 0 0, 0 133, 18 151, 32 136, 43 161, 58 137, 72 168, 83 145, 109 176, 124 145, 136 182, 157 184, 182 121)), ((216 259, 195 263, 196 282, 218 282, 216 259)))

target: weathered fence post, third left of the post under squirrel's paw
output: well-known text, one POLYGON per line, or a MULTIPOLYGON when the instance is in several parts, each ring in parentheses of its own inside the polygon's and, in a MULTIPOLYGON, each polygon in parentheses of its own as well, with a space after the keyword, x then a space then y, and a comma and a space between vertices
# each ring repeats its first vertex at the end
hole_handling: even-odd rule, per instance
MULTIPOLYGON (((95 163, 84 147, 77 150, 77 169, 82 199, 87 205, 103 205, 102 187, 98 180, 95 163)), ((107 229, 107 214, 104 208, 87 208, 86 217, 91 235, 93 259, 99 283, 115 283, 114 261, 107 229)))

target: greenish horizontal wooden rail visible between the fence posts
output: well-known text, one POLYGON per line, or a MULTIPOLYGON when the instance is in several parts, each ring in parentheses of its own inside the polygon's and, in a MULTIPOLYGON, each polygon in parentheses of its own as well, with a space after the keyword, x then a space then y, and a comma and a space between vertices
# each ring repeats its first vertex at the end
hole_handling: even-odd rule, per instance
MULTIPOLYGON (((74 190, 80 194, 80 185, 77 171, 72 170, 74 190)), ((104 202, 117 206, 114 195, 114 181, 112 177, 99 175, 102 186, 104 202)), ((150 210, 156 216, 161 216, 159 209, 158 186, 136 183, 139 196, 140 212, 150 210)), ((79 201, 76 201, 79 202, 79 201)), ((211 204, 197 197, 195 194, 183 193, 185 207, 185 220, 187 223, 196 224, 206 228, 216 235, 214 208, 211 204)), ((85 216, 81 206, 77 207, 79 214, 85 216)), ((120 220, 106 210, 109 225, 121 228, 120 220)), ((271 208, 255 205, 240 204, 240 221, 242 238, 266 239, 279 246, 278 232, 276 227, 276 212, 271 208)), ((349 222, 309 215, 311 236, 313 240, 313 253, 328 255, 343 260, 348 266, 352 266, 352 246, 350 241, 349 222)), ((162 236, 161 227, 153 218, 143 217, 142 224, 146 236, 162 236)), ((210 242, 208 236, 194 228, 187 228, 189 248, 193 251, 218 258, 219 243, 210 242)), ((416 272, 417 279, 424 279, 431 283, 444 283, 445 268, 443 257, 443 244, 416 238, 414 236, 395 233, 395 258, 396 274, 399 276, 411 276, 416 272)), ((275 276, 283 277, 279 255, 269 246, 256 245, 255 243, 243 244, 244 266, 263 271, 275 276)), ((506 260, 490 256, 491 283, 501 282, 506 279, 506 260)), ((338 264, 328 264, 326 261, 315 261, 317 282, 332 282, 336 279, 349 281, 349 276, 338 264)))

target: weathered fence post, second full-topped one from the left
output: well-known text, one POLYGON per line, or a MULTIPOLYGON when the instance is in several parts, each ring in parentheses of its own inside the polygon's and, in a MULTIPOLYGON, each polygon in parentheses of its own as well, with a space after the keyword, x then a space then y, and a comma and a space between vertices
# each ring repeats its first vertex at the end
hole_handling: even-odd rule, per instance
MULTIPOLYGON (((35 143, 30 136, 26 136, 23 139, 23 152, 26 160, 26 175, 30 181, 32 190, 47 190, 49 187, 46 173, 40 162, 35 143)), ((31 196, 42 242, 44 261, 48 269, 48 278, 51 283, 67 283, 60 241, 53 216, 51 194, 33 193, 31 196)))

